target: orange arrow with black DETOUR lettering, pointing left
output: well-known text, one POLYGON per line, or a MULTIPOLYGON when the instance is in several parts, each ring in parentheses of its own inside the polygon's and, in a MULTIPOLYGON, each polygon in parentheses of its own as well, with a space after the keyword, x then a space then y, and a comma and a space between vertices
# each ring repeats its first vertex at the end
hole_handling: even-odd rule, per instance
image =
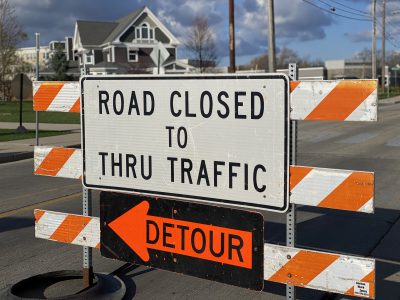
POLYGON ((252 268, 252 233, 148 215, 143 201, 109 227, 145 262, 148 249, 252 268))

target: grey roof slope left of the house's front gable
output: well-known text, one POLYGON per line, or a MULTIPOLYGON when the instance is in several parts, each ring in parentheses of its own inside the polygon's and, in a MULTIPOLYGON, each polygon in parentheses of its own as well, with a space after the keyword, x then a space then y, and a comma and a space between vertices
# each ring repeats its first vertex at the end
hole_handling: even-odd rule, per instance
POLYGON ((118 27, 116 22, 76 21, 82 45, 101 45, 118 27))

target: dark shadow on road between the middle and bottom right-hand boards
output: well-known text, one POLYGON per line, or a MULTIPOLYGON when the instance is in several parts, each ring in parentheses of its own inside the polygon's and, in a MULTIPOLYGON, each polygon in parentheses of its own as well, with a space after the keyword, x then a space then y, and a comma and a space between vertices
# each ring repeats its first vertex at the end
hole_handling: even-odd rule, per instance
MULTIPOLYGON (((311 250, 340 252, 350 255, 371 256, 393 227, 393 220, 400 215, 397 210, 376 209, 375 214, 332 211, 311 207, 298 209, 296 246, 311 250), (301 220, 301 215, 310 215, 301 220)), ((264 240, 268 243, 286 244, 285 216, 282 223, 265 218, 264 240)), ((399 261, 400 245, 393 245, 393 257, 399 261), (396 254, 396 250, 397 254, 396 254)), ((376 255, 379 258, 379 254, 376 255)), ((386 257, 385 257, 386 258, 386 257)))

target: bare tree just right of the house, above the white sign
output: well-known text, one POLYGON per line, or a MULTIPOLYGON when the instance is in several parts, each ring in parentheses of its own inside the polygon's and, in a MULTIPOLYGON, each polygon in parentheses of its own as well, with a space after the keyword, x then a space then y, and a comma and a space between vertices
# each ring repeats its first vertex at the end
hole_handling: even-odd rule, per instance
POLYGON ((191 52, 201 73, 217 65, 218 54, 214 33, 205 17, 197 16, 194 19, 184 44, 191 52))

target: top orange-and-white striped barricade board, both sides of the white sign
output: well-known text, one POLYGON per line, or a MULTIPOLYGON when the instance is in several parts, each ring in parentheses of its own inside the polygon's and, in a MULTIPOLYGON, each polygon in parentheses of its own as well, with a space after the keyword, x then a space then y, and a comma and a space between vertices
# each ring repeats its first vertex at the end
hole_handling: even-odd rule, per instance
MULTIPOLYGON (((290 119, 376 121, 376 80, 293 81, 290 119)), ((35 111, 80 112, 79 82, 34 82, 35 111)))

